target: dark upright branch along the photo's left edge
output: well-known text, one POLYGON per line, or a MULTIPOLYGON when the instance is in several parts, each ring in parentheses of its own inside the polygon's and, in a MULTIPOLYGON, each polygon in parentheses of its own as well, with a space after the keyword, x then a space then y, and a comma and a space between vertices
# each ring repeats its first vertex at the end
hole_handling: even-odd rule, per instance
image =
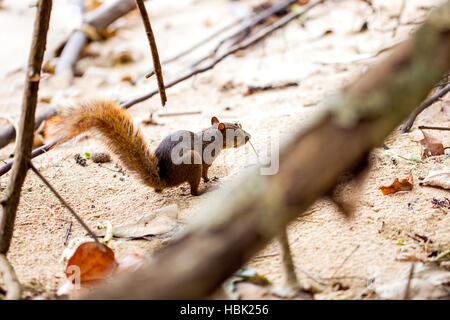
MULTIPOLYGON (((11 244, 17 206, 19 205, 20 200, 20 192, 27 175, 28 162, 30 161, 31 148, 33 146, 34 114, 36 111, 37 93, 39 90, 42 60, 44 58, 45 46, 47 43, 47 31, 50 23, 51 11, 52 0, 39 1, 34 23, 30 56, 28 58, 22 113, 19 122, 17 150, 14 156, 16 161, 14 162, 13 172, 8 183, 8 188, 6 189, 5 198, 1 202, 3 210, 0 217, 0 254, 2 254, 2 257, 5 259, 11 244)), ((10 266, 10 268, 12 268, 12 266, 10 266)), ((13 273, 10 272, 9 276, 12 275, 13 273)), ((16 286, 17 284, 13 286, 14 291, 11 293, 11 296, 14 298, 17 298, 16 286)))

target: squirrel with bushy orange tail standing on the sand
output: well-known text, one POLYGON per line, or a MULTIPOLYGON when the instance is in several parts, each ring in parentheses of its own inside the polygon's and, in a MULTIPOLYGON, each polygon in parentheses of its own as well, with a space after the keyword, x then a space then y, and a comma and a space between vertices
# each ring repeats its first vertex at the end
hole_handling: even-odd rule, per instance
POLYGON ((199 194, 201 178, 209 181, 208 169, 223 149, 243 146, 251 137, 238 122, 220 122, 212 117, 211 127, 197 133, 176 131, 152 152, 130 114, 109 100, 68 109, 56 134, 62 143, 90 130, 99 134, 125 168, 156 192, 188 182, 192 195, 199 194))

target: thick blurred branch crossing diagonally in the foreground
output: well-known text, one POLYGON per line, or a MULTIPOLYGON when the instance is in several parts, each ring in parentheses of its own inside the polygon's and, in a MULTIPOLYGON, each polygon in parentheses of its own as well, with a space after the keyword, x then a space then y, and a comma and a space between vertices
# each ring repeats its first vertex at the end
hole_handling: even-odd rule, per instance
POLYGON ((224 187, 206 200, 182 235, 152 254, 150 263, 83 298, 200 299, 213 292, 332 190, 344 171, 364 163, 424 99, 450 68, 449 14, 447 2, 413 39, 330 98, 309 124, 298 126, 280 150, 276 175, 261 175, 255 168, 224 187))

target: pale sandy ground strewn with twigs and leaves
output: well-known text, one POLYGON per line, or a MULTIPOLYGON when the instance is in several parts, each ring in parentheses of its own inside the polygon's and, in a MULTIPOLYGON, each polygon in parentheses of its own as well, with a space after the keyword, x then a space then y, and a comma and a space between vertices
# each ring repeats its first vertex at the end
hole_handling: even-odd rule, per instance
MULTIPOLYGON (((242 1, 244 4, 255 2, 242 1)), ((34 9, 28 7, 29 3, 7 0, 6 9, 0 11, 2 42, 7 44, 0 50, 0 114, 14 119, 20 115, 24 80, 23 69, 15 69, 25 65, 34 19, 34 9)), ((209 35, 234 19, 230 3, 225 0, 177 1, 176 6, 172 3, 159 0, 148 4, 162 59, 178 53, 196 39, 209 35)), ((150 113, 201 111, 198 115, 156 117, 158 126, 142 124, 143 133, 153 149, 168 133, 178 129, 201 130, 209 125, 211 116, 217 116, 224 121, 239 120, 252 134, 256 149, 264 150, 271 136, 279 135, 282 140, 302 126, 315 112, 314 107, 326 96, 357 79, 388 52, 356 62, 320 62, 342 60, 357 53, 389 47, 405 39, 417 27, 413 23, 401 25, 393 37, 391 29, 397 24, 393 16, 398 13, 401 1, 373 3, 379 9, 376 14, 372 14, 363 1, 327 1, 327 4, 313 9, 307 20, 294 21, 264 42, 227 58, 213 71, 169 89, 164 110, 156 96, 132 107, 130 112, 137 123, 142 123, 150 113), (369 22, 369 30, 359 32, 366 21, 369 22), (243 96, 248 85, 284 81, 298 81, 299 86, 243 96)), ((428 1, 427 7, 423 8, 423 1, 409 0, 401 20, 403 23, 421 21, 429 7, 439 3, 428 1)), ((66 2, 57 1, 52 16, 50 43, 70 31, 72 26, 65 24, 67 19, 64 17, 67 17, 66 2)), ((139 16, 131 14, 118 21, 117 26, 120 27, 117 36, 89 46, 89 55, 78 66, 80 71, 85 72, 83 77, 77 78, 69 89, 64 88, 55 77, 44 79, 40 97, 51 97, 52 102, 59 106, 92 97, 125 100, 153 89, 154 79, 140 80, 135 86, 121 81, 122 77, 136 77, 151 66, 139 16), (112 68, 110 61, 120 50, 130 52, 135 62, 112 68)), ((166 79, 184 72, 214 43, 165 67, 166 79)), ((448 108, 448 104, 448 97, 436 103, 419 117, 411 133, 399 135, 395 131, 385 143, 398 154, 411 153, 419 157, 422 135, 417 125, 448 126, 450 119, 442 112, 444 105, 448 108)), ((48 104, 40 102, 38 112, 46 107, 48 104)), ((2 126, 6 125, 5 121, 0 121, 2 126)), ((450 138, 450 134, 445 132, 435 132, 435 135, 444 144, 450 138)), ((12 148, 10 144, 0 150, 0 159, 7 159, 12 148)), ((201 184, 201 188, 213 191, 192 197, 187 185, 157 194, 133 176, 113 172, 116 170, 115 160, 102 166, 88 161, 86 167, 81 167, 73 159, 76 153, 98 150, 103 150, 98 140, 85 138, 58 147, 34 160, 42 174, 94 228, 106 220, 113 225, 134 221, 146 212, 173 203, 181 210, 180 220, 189 223, 202 198, 212 192, 220 192, 221 184, 256 162, 249 147, 226 150, 210 169, 210 175, 217 176, 219 180, 201 184)), ((316 295, 317 299, 351 299, 366 287, 368 278, 375 278, 377 282, 397 279, 409 268, 409 262, 396 259, 399 254, 408 252, 426 257, 429 253, 408 235, 426 235, 436 244, 450 245, 449 210, 435 209, 430 202, 432 198, 448 197, 448 192, 418 185, 418 178, 425 177, 430 170, 448 167, 448 156, 429 158, 423 163, 400 159, 393 164, 383 158, 382 153, 382 148, 374 150, 374 164, 363 185, 356 188, 341 186, 344 199, 353 201, 355 206, 352 220, 345 220, 331 202, 319 200, 311 208, 311 215, 296 220, 289 227, 295 263, 316 276, 333 276, 343 284, 341 290, 337 286, 325 286, 316 295), (383 196, 378 190, 379 186, 390 184, 396 177, 407 177, 409 172, 412 172, 416 182, 411 192, 383 196), (413 209, 409 210, 408 204, 413 201, 413 209), (406 245, 399 245, 399 240, 406 245), (357 246, 359 248, 341 266, 357 246)), ((9 176, 0 177, 0 196, 4 194, 9 176)), ((211 214, 214 214, 213 210, 211 214)), ((24 285, 50 294, 65 279, 64 265, 58 260, 65 247, 67 223, 59 219, 72 220, 67 210, 30 173, 23 187, 8 256, 24 285)), ((74 223, 71 238, 77 236, 84 236, 84 232, 74 223)), ((129 253, 153 252, 162 244, 163 240, 154 239, 112 241, 110 246, 120 258, 129 253)), ((282 274, 277 252, 277 243, 273 242, 248 266, 279 284, 282 274)), ((297 274, 305 285, 313 284, 300 271, 297 274)), ((370 295, 369 298, 376 299, 377 296, 370 295)))

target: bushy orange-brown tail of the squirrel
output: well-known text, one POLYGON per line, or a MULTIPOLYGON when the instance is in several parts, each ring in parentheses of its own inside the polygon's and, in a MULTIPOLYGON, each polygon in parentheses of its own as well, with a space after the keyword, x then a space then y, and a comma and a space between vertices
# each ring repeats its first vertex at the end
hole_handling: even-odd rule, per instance
POLYGON ((97 100, 67 110, 57 133, 67 141, 77 135, 95 130, 110 151, 119 157, 129 171, 135 172, 147 185, 161 189, 158 158, 145 142, 139 128, 128 112, 113 101, 97 100))

